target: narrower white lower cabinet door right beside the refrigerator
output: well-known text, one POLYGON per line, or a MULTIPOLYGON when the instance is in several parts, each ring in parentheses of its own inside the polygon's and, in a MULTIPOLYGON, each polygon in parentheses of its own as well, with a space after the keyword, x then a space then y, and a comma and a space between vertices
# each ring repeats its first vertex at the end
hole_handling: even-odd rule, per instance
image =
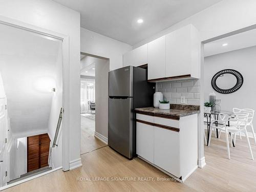
POLYGON ((136 153, 154 163, 154 126, 137 122, 136 153))

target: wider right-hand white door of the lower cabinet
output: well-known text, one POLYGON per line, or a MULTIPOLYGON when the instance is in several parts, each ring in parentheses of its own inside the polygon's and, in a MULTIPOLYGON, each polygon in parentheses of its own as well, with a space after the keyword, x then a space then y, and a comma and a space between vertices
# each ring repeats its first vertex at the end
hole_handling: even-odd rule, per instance
POLYGON ((179 132, 154 127, 154 163, 180 177, 179 132))

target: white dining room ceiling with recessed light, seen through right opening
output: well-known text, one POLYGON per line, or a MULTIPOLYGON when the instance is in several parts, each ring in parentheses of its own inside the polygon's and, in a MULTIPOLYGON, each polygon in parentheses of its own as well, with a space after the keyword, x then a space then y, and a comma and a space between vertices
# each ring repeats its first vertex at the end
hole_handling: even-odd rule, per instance
POLYGON ((207 57, 252 46, 256 46, 256 29, 208 42, 204 45, 204 55, 207 57))

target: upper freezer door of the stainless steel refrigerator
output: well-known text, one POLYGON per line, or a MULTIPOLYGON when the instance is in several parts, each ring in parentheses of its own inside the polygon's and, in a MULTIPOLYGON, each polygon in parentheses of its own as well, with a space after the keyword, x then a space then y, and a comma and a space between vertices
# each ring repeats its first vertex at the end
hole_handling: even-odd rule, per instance
POLYGON ((127 66, 109 72, 109 96, 133 96, 132 66, 127 66))

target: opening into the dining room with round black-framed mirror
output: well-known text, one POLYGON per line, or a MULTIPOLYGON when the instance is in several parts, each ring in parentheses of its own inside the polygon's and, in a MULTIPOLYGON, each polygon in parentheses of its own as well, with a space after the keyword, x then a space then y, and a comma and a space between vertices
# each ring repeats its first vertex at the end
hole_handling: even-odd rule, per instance
POLYGON ((221 164, 222 169, 228 166, 229 175, 241 174, 241 164, 246 164, 244 173, 253 174, 251 167, 256 165, 256 92, 252 89, 256 70, 255 28, 250 26, 203 42, 205 159, 210 164, 221 164))

